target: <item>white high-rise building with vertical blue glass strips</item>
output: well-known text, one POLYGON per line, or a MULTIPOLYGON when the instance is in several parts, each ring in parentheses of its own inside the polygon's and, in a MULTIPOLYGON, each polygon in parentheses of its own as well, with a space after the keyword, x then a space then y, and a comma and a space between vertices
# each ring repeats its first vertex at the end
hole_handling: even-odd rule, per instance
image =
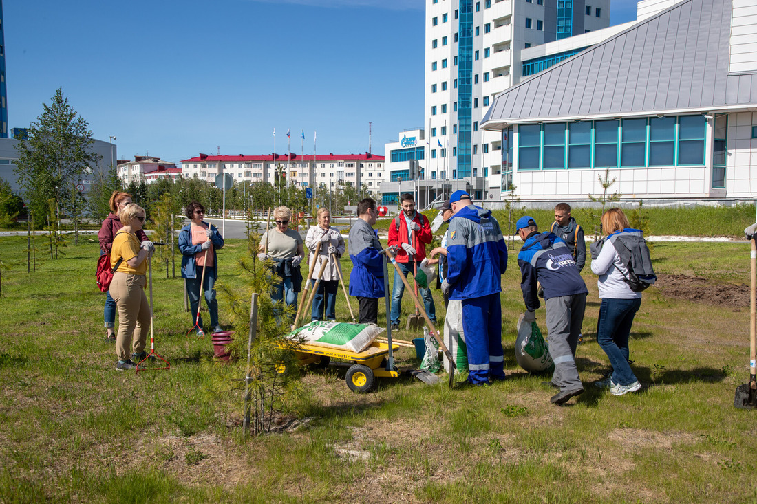
POLYGON ((485 177, 485 184, 472 184, 472 196, 499 200, 507 189, 501 176, 501 136, 480 129, 481 119, 497 93, 522 75, 578 52, 522 61, 521 51, 607 26, 609 0, 426 0, 423 126, 428 157, 443 158, 450 179, 485 177))

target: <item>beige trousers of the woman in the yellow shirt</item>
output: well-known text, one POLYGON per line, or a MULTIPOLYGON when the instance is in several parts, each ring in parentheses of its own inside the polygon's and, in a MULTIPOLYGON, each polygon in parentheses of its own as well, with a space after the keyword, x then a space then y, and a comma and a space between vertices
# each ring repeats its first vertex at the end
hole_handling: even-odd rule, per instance
POLYGON ((150 304, 145 296, 145 275, 116 272, 111 282, 111 297, 118 308, 118 334, 116 336, 116 355, 120 360, 127 360, 129 339, 132 341, 132 353, 145 350, 147 334, 150 330, 150 304))

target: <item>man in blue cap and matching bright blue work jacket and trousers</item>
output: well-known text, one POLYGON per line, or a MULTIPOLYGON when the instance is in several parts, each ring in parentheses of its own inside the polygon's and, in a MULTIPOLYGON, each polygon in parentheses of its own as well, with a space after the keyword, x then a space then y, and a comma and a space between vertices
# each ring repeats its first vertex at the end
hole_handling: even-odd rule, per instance
POLYGON ((453 216, 447 230, 447 278, 441 290, 463 305, 468 347, 468 381, 504 380, 500 276, 507 269, 507 248, 491 210, 475 207, 466 191, 450 197, 453 216))

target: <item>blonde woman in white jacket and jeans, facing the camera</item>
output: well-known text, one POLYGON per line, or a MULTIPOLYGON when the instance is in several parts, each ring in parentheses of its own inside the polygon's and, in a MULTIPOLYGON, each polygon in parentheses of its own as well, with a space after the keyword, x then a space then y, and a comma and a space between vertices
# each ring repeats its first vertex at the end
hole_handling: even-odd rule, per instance
POLYGON ((307 263, 312 266, 313 256, 315 255, 316 244, 320 242, 321 247, 313 269, 313 285, 316 282, 316 276, 321 269, 323 261, 327 262, 326 269, 323 270, 321 283, 315 297, 313 297, 313 310, 310 314, 310 321, 326 319, 328 322, 334 322, 336 319, 336 294, 339 290, 339 275, 337 269, 339 259, 344 254, 344 238, 338 230, 331 227, 331 213, 328 208, 321 207, 316 214, 318 226, 312 226, 307 230, 305 236, 305 246, 310 250, 307 263), (324 303, 324 300, 326 303, 324 303))

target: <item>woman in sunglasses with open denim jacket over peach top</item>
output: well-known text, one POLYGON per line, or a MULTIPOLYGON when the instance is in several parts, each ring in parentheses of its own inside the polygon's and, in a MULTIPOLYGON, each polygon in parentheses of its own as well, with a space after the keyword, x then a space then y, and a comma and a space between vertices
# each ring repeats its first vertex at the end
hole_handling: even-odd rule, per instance
POLYGON ((204 222, 205 207, 192 201, 186 207, 189 224, 179 231, 179 250, 182 253, 182 278, 186 279, 189 305, 192 307, 192 323, 197 322, 197 335, 205 335, 202 317, 195 321, 200 302, 200 284, 205 294, 210 326, 213 332, 221 332, 218 325, 218 301, 216 300, 216 278, 218 278, 218 257, 216 250, 223 247, 223 236, 218 228, 204 222), (205 278, 204 280, 202 278, 205 278))

